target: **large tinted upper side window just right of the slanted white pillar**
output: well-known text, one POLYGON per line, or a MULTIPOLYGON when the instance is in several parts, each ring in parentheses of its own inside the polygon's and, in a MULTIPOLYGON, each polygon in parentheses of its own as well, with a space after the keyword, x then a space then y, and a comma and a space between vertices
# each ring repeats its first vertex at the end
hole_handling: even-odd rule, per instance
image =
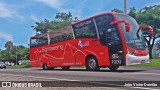
POLYGON ((72 25, 75 38, 97 38, 96 28, 92 19, 72 25))

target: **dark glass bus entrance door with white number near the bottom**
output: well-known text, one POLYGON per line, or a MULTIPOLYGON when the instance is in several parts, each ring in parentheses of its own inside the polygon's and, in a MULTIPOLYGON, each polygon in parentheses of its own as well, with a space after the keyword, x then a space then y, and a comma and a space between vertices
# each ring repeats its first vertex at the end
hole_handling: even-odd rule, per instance
POLYGON ((123 46, 117 27, 111 27, 107 29, 107 45, 110 58, 110 65, 124 65, 123 46))

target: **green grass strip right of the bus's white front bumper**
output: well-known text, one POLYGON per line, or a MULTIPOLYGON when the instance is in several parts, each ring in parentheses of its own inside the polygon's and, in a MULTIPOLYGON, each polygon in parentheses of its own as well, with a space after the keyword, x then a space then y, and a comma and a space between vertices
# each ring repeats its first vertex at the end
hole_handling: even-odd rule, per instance
POLYGON ((151 59, 149 64, 131 65, 126 67, 138 67, 138 68, 160 68, 160 59, 151 59))

